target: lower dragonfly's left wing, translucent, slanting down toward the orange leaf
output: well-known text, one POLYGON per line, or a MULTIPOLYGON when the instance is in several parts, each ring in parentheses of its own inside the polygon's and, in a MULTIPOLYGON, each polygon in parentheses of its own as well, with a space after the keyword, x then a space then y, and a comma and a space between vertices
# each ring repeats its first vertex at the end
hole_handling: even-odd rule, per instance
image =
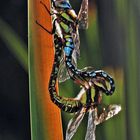
POLYGON ((76 113, 74 118, 72 118, 69 121, 66 130, 66 140, 71 140, 73 135, 76 133, 77 128, 79 127, 81 121, 83 120, 84 115, 85 115, 85 108, 82 108, 78 113, 76 113))

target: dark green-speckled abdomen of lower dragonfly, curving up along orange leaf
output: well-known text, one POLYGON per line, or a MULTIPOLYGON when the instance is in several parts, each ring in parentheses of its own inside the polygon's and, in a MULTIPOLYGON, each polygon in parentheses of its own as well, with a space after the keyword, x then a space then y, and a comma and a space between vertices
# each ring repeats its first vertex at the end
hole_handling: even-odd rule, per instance
POLYGON ((61 38, 59 38, 56 34, 54 35, 54 43, 55 43, 55 58, 54 58, 54 64, 53 64, 52 73, 49 81, 50 97, 52 102, 55 103, 63 111, 69 113, 77 112, 83 106, 80 100, 61 97, 57 94, 56 80, 59 71, 63 44, 61 38))

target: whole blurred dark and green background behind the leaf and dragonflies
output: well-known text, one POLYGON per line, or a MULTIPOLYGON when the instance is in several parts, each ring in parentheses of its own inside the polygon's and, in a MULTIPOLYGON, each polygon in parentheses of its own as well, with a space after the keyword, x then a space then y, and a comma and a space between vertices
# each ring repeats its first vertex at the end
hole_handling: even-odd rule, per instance
MULTIPOLYGON (((80 0, 72 1, 78 13, 80 0)), ((27 2, 0 5, 0 139, 30 140, 27 76, 27 2)), ((89 28, 80 30, 78 68, 93 66, 111 74, 116 91, 105 104, 121 104, 122 111, 97 126, 97 140, 140 139, 140 1, 89 0, 89 28)), ((60 95, 75 97, 72 80, 60 85, 60 95)), ((73 115, 62 112, 64 134, 73 115)), ((73 140, 84 140, 87 116, 73 140)))

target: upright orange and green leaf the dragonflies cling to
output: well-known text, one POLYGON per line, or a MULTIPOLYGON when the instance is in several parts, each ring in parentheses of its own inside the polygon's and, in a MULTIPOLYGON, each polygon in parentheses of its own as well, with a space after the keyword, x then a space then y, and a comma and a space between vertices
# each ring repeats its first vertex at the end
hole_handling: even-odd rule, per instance
MULTIPOLYGON (((43 0, 50 9, 50 0, 43 0)), ((48 83, 54 60, 51 17, 39 0, 28 1, 29 92, 32 140, 62 140, 60 110, 51 102, 48 83)))

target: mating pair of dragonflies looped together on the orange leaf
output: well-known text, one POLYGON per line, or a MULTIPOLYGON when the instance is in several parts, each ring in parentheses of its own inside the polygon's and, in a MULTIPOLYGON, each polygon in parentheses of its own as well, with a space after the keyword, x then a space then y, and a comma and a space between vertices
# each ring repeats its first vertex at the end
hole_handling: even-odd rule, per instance
MULTIPOLYGON (((69 122, 66 133, 66 139, 70 140, 86 112, 89 112, 89 122, 91 120, 94 122, 95 118, 96 120, 98 118, 97 124, 111 117, 111 115, 109 115, 110 112, 113 111, 113 115, 117 113, 116 109, 118 110, 119 107, 115 106, 114 111, 113 106, 109 107, 107 111, 104 110, 104 112, 100 114, 100 117, 93 115, 93 112, 97 114, 97 106, 101 102, 102 93, 106 95, 113 94, 115 90, 114 80, 103 70, 94 71, 91 67, 80 70, 76 65, 80 47, 78 30, 80 28, 86 29, 88 26, 88 0, 82 0, 78 16, 72 9, 69 0, 52 0, 51 11, 48 10, 42 1, 40 1, 40 3, 45 7, 47 13, 52 16, 53 20, 52 31, 47 30, 36 21, 46 32, 54 35, 55 58, 49 82, 50 97, 53 103, 63 111, 76 113, 75 118, 69 122), (59 78, 59 81, 64 82, 69 77, 73 79, 75 83, 82 86, 82 90, 76 98, 65 98, 57 94, 57 78, 59 78), (91 94, 91 88, 94 89, 94 96, 91 94), (84 94, 86 94, 85 102, 82 101, 84 94)), ((93 126, 96 126, 96 124, 93 126)), ((86 138, 88 139, 90 137, 90 139, 93 139, 94 136, 91 136, 93 128, 91 128, 89 124, 88 129, 90 129, 90 131, 87 131, 86 138)))

